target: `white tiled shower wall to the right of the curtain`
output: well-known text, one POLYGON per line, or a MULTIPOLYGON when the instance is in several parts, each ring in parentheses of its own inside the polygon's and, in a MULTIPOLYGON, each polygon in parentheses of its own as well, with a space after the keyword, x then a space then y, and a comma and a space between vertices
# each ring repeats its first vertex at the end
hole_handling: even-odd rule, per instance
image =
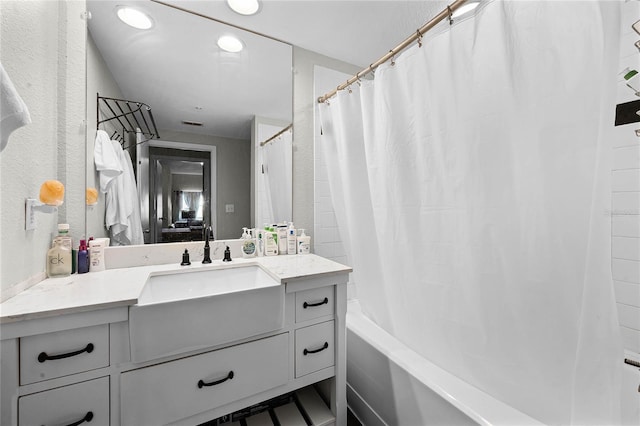
MULTIPOLYGON (((631 25, 640 19, 640 2, 623 4, 619 70, 640 70, 640 35, 631 25)), ((623 82, 618 103, 638 100, 623 82)), ((640 353, 640 123, 617 126, 613 135, 611 273, 625 349, 640 353)))

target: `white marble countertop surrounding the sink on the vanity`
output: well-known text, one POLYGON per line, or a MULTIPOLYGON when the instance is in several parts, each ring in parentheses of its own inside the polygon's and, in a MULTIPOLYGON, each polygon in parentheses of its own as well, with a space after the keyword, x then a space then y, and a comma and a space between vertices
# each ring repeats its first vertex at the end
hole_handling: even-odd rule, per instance
POLYGON ((303 278, 342 274, 351 268, 316 256, 291 255, 235 258, 231 263, 214 260, 203 265, 178 263, 107 269, 101 272, 48 278, 0 304, 0 324, 46 318, 61 314, 134 305, 150 274, 260 265, 281 283, 303 278))

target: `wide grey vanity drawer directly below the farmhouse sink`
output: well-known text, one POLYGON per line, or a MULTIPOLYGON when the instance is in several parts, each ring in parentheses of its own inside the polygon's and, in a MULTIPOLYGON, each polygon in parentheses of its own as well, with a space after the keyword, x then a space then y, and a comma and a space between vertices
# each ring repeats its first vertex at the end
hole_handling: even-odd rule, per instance
POLYGON ((120 376, 121 423, 160 425, 288 381, 289 334, 128 371, 120 376))

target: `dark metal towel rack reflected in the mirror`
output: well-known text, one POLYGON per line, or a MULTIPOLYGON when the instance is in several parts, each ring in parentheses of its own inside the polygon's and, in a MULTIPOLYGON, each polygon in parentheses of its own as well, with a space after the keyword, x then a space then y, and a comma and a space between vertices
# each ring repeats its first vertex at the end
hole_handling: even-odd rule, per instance
MULTIPOLYGON (((127 99, 108 98, 97 94, 98 101, 96 112, 98 117, 97 128, 101 124, 113 122, 112 125, 116 129, 122 128, 122 134, 115 130, 111 135, 111 139, 118 140, 124 144, 124 136, 126 133, 140 132, 144 135, 143 141, 137 142, 135 145, 147 142, 151 139, 159 139, 160 134, 156 127, 156 122, 151 113, 151 107, 143 102, 130 101, 127 99), (102 111, 104 119, 100 120, 100 112, 102 111), (117 123, 115 123, 117 121, 117 123)), ((133 146, 133 145, 131 145, 133 146)), ((130 146, 126 147, 129 148, 130 146)), ((125 148, 125 147, 123 147, 125 148)))

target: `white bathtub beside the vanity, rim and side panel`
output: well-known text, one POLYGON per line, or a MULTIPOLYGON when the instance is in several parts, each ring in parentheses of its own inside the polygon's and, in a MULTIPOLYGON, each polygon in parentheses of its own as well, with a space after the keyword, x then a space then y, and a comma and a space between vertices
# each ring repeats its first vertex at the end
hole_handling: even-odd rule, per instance
POLYGON ((422 358, 347 308, 347 405, 365 426, 541 425, 422 358))

